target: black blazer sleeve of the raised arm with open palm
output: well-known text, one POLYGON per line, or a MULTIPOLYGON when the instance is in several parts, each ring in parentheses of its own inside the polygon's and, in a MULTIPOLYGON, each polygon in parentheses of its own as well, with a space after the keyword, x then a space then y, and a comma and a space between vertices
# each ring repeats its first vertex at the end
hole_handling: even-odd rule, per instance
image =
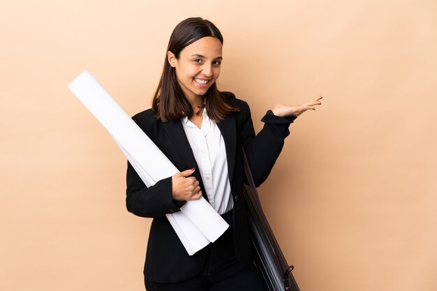
POLYGON ((269 110, 261 119, 264 122, 262 130, 255 135, 251 110, 246 102, 240 107, 240 112, 242 112, 240 138, 255 186, 258 187, 272 171, 276 159, 281 154, 284 140, 290 135, 288 127, 297 117, 278 117, 269 110))

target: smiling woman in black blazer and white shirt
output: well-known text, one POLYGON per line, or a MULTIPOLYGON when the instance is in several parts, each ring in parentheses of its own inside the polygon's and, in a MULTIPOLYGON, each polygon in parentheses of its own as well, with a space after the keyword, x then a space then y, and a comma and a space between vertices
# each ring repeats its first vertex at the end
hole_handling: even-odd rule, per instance
POLYGON ((223 37, 212 22, 188 18, 170 37, 152 107, 133 120, 182 172, 147 188, 128 163, 128 211, 154 218, 145 262, 147 290, 265 290, 253 266, 244 199, 243 151, 259 186, 279 156, 288 126, 320 98, 276 105, 256 135, 246 102, 218 91, 223 37), (165 214, 205 197, 230 225, 189 256, 165 214))

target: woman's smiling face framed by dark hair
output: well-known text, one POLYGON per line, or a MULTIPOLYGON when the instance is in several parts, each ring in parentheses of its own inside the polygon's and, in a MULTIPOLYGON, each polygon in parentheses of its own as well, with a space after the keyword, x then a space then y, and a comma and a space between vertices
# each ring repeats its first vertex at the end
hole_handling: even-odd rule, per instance
POLYGON ((205 95, 220 75, 222 61, 220 40, 212 36, 187 45, 176 59, 168 52, 170 66, 176 70, 177 81, 189 100, 205 95))

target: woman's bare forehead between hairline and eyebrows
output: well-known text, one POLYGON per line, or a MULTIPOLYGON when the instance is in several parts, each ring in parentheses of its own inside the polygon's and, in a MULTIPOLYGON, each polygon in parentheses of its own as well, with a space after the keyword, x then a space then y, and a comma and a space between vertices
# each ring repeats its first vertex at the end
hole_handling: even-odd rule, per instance
POLYGON ((193 54, 200 54, 207 58, 215 59, 221 57, 222 50, 223 45, 221 45, 220 40, 212 36, 206 36, 184 47, 181 51, 181 56, 191 57, 193 54))

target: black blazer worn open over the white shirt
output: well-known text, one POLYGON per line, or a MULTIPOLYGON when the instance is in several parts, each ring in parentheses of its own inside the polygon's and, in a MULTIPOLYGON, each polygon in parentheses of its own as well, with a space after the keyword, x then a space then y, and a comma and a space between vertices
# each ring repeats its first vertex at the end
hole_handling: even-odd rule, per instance
MULTIPOLYGON (((233 234, 235 253, 242 267, 249 267, 253 261, 251 241, 246 220, 246 204, 242 195, 244 176, 242 145, 249 160, 253 179, 258 187, 262 184, 278 158, 284 139, 289 135, 288 126, 295 117, 277 117, 267 112, 262 121, 264 128, 255 137, 249 105, 235 98, 234 94, 223 92, 227 102, 239 107, 239 112, 230 114, 217 123, 225 142, 228 173, 231 185, 233 208, 233 234)), ((136 114, 133 120, 144 130, 163 154, 184 171, 195 167, 194 177, 198 179, 203 196, 206 191, 195 162, 193 151, 186 138, 181 121, 163 123, 156 120, 156 112, 145 110, 136 114)), ((147 149, 145 149, 147 150, 147 149)), ((184 281, 197 275, 206 260, 206 252, 200 250, 192 256, 186 252, 177 234, 165 218, 165 214, 179 211, 184 202, 172 200, 172 177, 158 181, 147 188, 130 163, 126 175, 126 207, 131 213, 151 217, 149 242, 145 262, 145 278, 158 283, 184 281)))

